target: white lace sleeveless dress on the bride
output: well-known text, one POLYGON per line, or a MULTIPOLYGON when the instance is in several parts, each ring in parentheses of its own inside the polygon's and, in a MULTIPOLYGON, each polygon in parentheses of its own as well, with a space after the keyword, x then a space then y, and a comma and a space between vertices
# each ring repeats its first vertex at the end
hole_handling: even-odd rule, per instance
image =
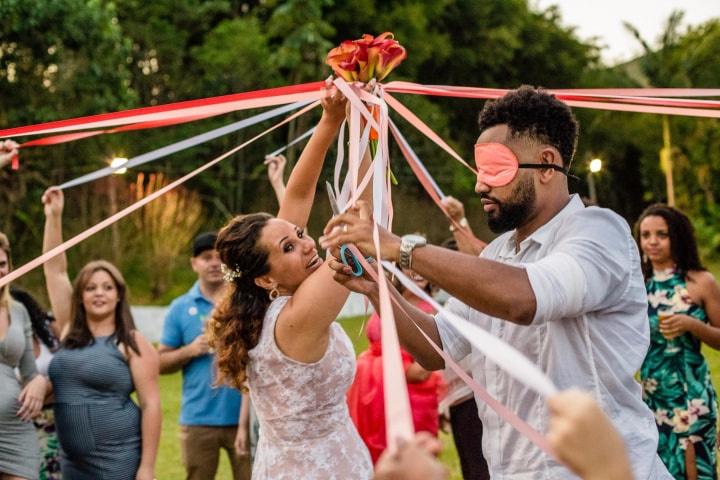
POLYGON ((289 298, 270 304, 258 344, 249 352, 248 385, 260 422, 252 478, 368 480, 370 455, 345 402, 355 374, 352 343, 333 323, 319 361, 285 356, 275 342, 275 323, 289 298))

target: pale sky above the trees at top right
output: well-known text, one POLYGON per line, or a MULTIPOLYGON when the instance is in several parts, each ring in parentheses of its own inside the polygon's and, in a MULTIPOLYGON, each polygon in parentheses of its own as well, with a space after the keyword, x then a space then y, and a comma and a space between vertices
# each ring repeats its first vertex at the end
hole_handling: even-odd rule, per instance
POLYGON ((687 25, 697 25, 720 17, 720 0, 531 0, 540 9, 558 5, 562 23, 577 27, 581 39, 599 37, 605 46, 602 58, 608 65, 630 60, 642 52, 642 47, 623 21, 634 25, 651 46, 664 29, 673 10, 683 10, 684 31, 687 25))

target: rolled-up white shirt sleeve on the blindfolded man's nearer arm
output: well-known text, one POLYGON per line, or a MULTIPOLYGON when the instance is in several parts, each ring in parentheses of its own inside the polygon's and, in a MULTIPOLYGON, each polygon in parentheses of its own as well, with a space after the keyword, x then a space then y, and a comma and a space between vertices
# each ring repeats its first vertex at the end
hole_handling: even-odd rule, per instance
POLYGON ((537 305, 533 322, 577 317, 623 297, 637 248, 621 217, 585 209, 560 227, 554 241, 552 253, 525 265, 537 305))

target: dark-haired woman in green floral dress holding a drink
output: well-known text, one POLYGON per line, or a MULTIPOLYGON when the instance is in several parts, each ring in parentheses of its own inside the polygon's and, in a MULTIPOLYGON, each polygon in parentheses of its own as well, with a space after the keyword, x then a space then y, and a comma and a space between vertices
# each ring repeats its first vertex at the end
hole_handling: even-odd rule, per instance
POLYGON ((717 398, 700 347, 720 348, 720 287, 700 263, 689 219, 653 205, 637 223, 650 348, 640 370, 658 454, 678 480, 717 478, 717 398))

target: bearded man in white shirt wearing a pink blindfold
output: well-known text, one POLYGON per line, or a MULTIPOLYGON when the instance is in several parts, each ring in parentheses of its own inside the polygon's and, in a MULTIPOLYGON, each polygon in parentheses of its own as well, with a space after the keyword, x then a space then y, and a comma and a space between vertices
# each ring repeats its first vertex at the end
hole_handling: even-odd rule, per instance
MULTIPOLYGON (((637 247, 621 217, 585 208, 568 192, 578 132, 572 112, 554 96, 523 86, 488 102, 479 123, 475 191, 490 228, 502 235, 478 258, 381 229, 382 258, 449 292, 452 312, 520 350, 559 389, 591 393, 624 437, 637 480, 670 479, 655 453, 653 415, 634 380, 649 344, 637 247)), ((369 214, 362 205, 355 210, 328 223, 321 245, 352 243, 375 255, 369 214)), ((348 276, 337 261, 330 265, 338 281, 367 294, 377 308, 375 284, 348 276)), ((542 397, 476 351, 442 315, 433 318, 392 294, 403 307, 393 306, 400 341, 421 365, 437 370, 444 362, 413 322, 453 358, 471 355, 474 379, 547 431, 542 397)), ((478 413, 492 478, 576 478, 484 402, 478 401, 478 413)))

